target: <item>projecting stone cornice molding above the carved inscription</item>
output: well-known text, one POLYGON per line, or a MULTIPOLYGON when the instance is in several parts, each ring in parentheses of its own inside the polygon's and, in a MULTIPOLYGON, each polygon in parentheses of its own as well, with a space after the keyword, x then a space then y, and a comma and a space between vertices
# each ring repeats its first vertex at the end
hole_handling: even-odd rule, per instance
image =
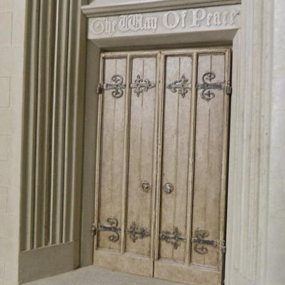
POLYGON ((184 8, 197 8, 215 5, 240 4, 241 0, 134 0, 128 3, 96 3, 82 6, 82 12, 88 17, 110 16, 117 14, 131 14, 141 12, 155 12, 177 10, 184 8))

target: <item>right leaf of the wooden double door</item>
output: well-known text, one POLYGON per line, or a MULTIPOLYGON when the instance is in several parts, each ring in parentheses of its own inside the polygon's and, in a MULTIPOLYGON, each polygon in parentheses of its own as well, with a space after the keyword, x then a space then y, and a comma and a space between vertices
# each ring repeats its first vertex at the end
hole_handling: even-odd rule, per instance
POLYGON ((230 51, 194 52, 190 54, 193 64, 184 62, 183 67, 173 53, 177 54, 164 53, 160 248, 153 272, 155 277, 177 282, 219 285, 223 277, 229 112, 225 91, 230 51), (192 78, 192 86, 183 98, 167 84, 174 77, 181 78, 176 82, 181 88, 186 73, 182 69, 191 65, 187 78, 192 78), (169 182, 173 190, 167 194, 164 185, 169 182), (170 230, 165 232, 165 227, 170 230))

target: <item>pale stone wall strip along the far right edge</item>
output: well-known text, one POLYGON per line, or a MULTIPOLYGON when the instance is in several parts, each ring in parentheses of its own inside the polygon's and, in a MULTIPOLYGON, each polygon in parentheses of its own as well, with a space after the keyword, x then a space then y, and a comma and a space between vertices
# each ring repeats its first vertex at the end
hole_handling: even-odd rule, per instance
POLYGON ((275 0, 267 284, 285 282, 285 2, 275 0))

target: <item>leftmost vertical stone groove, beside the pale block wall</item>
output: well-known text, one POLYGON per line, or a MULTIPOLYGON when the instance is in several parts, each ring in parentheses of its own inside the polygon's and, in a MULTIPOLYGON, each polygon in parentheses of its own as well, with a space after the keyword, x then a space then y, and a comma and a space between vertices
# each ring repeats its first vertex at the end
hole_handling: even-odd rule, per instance
POLYGON ((39 0, 27 1, 25 40, 24 126, 21 193, 21 250, 34 246, 34 190, 36 164, 36 106, 38 82, 39 0))

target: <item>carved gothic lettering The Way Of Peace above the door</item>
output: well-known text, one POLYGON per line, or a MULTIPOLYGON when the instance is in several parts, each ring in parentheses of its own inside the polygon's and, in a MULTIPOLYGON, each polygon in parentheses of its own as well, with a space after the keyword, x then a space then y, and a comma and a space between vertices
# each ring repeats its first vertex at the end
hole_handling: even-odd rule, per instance
MULTIPOLYGON (((90 27, 95 35, 116 33, 148 32, 155 34, 158 30, 197 29, 199 27, 231 27, 236 24, 240 10, 236 8, 198 8, 175 10, 152 14, 129 14, 90 19, 90 27), (216 9, 216 10, 215 10, 216 9)), ((174 32, 174 31, 173 31, 174 32)))

